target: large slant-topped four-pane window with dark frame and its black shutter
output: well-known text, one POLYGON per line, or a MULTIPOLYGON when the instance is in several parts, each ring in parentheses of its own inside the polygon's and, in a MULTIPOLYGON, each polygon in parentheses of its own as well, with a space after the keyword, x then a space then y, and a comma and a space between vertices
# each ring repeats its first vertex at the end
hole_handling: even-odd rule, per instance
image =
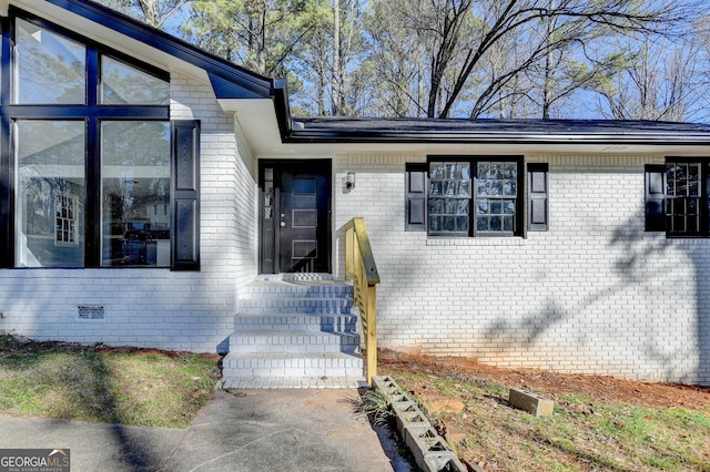
POLYGON ((199 269, 199 125, 171 122, 170 74, 11 11, 0 266, 199 269))

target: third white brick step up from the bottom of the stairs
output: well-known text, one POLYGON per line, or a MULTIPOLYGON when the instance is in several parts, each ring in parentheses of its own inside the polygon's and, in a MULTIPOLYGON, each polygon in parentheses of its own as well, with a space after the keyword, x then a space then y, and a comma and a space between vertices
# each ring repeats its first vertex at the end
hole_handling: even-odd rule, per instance
POLYGON ((353 314, 239 314, 234 317, 236 332, 311 331, 356 332, 358 318, 353 314))

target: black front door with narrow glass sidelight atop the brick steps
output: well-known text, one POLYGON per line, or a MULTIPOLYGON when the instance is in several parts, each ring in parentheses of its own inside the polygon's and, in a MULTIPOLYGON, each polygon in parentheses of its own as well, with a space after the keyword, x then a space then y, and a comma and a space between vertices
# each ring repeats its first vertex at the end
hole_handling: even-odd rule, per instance
POLYGON ((331 162, 260 164, 261 271, 331 271, 331 162))

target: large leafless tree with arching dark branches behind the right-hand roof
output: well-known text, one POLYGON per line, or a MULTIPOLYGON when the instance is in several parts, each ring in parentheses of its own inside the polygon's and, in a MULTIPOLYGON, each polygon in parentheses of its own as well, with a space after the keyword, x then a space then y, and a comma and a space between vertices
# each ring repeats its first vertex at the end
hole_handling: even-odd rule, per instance
POLYGON ((617 33, 661 33, 686 14, 676 1, 627 0, 418 0, 412 4, 420 18, 414 24, 430 38, 428 116, 448 116, 485 62, 486 54, 510 34, 528 29, 538 32, 535 48, 506 72, 496 75, 471 106, 470 116, 487 110, 498 91, 551 51, 585 41, 579 33, 602 28, 617 33), (559 20, 565 21, 559 21, 559 20), (547 23, 546 23, 547 21, 547 23), (569 28, 575 24, 575 28, 569 28), (452 79, 449 79, 452 78, 452 79))

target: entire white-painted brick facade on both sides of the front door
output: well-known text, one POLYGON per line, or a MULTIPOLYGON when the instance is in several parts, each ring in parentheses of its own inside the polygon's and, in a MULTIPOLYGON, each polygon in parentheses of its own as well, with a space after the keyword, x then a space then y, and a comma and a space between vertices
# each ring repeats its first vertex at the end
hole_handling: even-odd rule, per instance
MULTIPOLYGON (((256 163, 209 84, 172 78, 171 116, 202 123, 202 270, 2 269, 0 329, 38 339, 215 351, 257 271, 256 163), (78 320, 80 305, 105 320, 78 320)), ((643 232, 643 165, 663 156, 530 155, 549 163, 550 230, 430 239, 404 230, 404 170, 422 154, 334 162, 343 225, 364 216, 382 278, 383 347, 503 366, 710 383, 710 240, 643 232), (356 188, 345 192, 347 172, 356 188), (376 199, 377 204, 373 202, 376 199)))

